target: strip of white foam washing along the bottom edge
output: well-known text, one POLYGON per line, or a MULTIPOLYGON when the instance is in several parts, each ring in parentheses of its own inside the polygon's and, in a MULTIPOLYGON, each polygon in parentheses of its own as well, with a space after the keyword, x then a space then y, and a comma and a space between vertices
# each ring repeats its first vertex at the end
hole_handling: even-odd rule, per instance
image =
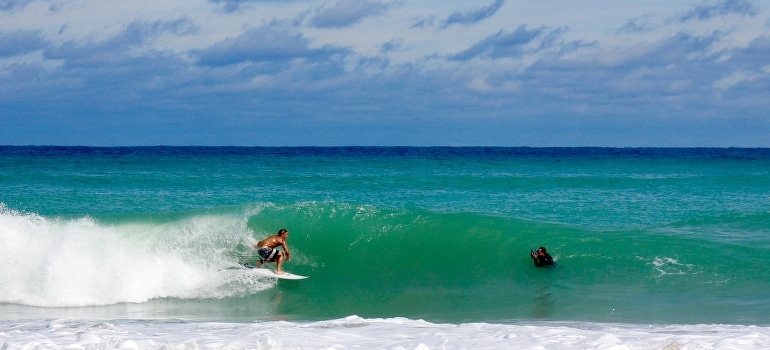
POLYGON ((1 349, 767 349, 770 328, 596 323, 435 324, 349 316, 256 323, 0 321, 1 349))

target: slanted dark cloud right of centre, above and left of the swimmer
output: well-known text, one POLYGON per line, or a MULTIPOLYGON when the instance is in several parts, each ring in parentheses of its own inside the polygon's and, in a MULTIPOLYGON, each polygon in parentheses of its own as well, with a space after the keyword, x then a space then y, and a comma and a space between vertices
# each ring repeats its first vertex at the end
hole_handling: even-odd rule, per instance
POLYGON ((479 56, 492 59, 520 56, 525 52, 525 46, 538 38, 547 38, 548 40, 543 41, 543 45, 549 45, 554 38, 553 36, 546 36, 547 33, 544 28, 527 30, 526 25, 519 26, 513 33, 500 30, 467 50, 452 56, 451 59, 464 61, 479 56))

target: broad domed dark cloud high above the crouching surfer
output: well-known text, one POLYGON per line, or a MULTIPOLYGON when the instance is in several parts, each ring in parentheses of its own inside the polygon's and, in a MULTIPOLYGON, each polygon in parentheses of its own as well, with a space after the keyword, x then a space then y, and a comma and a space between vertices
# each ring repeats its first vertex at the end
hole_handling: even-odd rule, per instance
POLYGON ((346 50, 333 47, 310 48, 302 34, 273 27, 249 30, 240 36, 227 38, 196 53, 198 63, 206 66, 226 66, 242 62, 278 62, 295 58, 321 59, 346 50))

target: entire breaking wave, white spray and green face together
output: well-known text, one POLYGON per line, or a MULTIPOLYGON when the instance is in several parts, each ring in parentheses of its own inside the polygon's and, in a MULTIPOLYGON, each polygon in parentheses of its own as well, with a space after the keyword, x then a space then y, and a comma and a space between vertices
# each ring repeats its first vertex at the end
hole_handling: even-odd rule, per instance
POLYGON ((74 219, 6 208, 0 277, 12 288, 0 297, 42 306, 208 300, 229 310, 221 312, 301 319, 752 323, 770 302, 766 247, 719 232, 745 233, 764 219, 608 230, 331 201, 74 219), (275 283, 234 269, 255 258, 251 243, 279 228, 291 232, 284 268, 309 279, 275 283), (713 234, 693 234, 703 230, 713 234), (538 246, 555 266, 533 265, 538 246))

